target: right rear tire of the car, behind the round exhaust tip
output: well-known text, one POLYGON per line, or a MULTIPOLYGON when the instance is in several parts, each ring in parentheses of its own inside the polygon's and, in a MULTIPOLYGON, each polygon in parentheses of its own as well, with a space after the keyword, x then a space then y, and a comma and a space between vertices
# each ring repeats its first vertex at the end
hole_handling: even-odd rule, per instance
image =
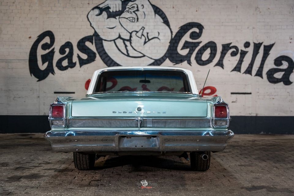
POLYGON ((190 153, 191 168, 194 171, 206 171, 210 165, 210 152, 191 152, 190 153))

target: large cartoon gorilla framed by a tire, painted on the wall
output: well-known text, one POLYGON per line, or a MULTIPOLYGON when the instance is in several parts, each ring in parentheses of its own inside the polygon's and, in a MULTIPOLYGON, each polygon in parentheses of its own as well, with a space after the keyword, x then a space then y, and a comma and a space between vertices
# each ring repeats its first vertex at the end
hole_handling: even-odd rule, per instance
POLYGON ((107 66, 160 65, 171 40, 165 14, 148 0, 107 0, 88 13, 107 66))

